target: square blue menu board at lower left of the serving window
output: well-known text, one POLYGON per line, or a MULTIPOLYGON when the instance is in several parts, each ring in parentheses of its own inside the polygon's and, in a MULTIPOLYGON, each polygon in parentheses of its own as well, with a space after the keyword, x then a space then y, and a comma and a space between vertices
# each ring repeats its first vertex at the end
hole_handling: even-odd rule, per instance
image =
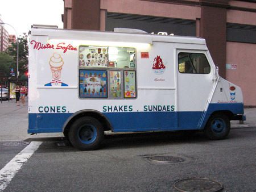
POLYGON ((107 98, 106 70, 79 70, 80 98, 107 98))

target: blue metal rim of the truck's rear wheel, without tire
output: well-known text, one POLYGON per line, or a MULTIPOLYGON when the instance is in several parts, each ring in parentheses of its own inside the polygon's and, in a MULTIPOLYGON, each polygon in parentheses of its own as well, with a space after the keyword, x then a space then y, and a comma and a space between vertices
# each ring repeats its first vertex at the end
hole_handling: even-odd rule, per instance
POLYGON ((94 126, 85 124, 77 132, 79 140, 84 144, 91 144, 96 140, 97 130, 94 126))

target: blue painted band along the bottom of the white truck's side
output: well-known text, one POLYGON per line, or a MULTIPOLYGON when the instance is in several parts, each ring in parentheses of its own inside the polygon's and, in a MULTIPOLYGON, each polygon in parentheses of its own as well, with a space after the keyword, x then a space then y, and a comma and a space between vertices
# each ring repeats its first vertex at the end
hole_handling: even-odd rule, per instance
MULTIPOLYGON (((104 112, 114 132, 174 131, 203 128, 214 111, 243 114, 243 103, 212 103, 207 111, 184 112, 104 112), (176 121, 177 119, 177 121, 176 121)), ((28 114, 28 133, 62 132, 71 113, 28 114)))

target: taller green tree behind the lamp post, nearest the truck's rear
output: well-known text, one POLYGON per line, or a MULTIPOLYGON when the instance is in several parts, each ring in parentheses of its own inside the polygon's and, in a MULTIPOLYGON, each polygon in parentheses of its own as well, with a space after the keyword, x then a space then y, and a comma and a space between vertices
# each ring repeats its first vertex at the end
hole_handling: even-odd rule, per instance
MULTIPOLYGON (((28 44, 27 35, 23 34, 19 40, 19 76, 23 76, 28 70, 28 44)), ((13 58, 14 66, 17 66, 17 43, 11 43, 11 46, 7 48, 6 53, 13 58)), ((14 68, 16 72, 16 67, 14 68)))

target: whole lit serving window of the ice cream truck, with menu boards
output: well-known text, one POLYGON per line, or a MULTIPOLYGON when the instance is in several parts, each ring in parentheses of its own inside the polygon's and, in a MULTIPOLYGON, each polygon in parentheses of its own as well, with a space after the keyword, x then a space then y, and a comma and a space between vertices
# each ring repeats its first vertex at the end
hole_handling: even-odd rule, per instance
POLYGON ((79 47, 80 98, 136 98, 135 48, 79 47))

